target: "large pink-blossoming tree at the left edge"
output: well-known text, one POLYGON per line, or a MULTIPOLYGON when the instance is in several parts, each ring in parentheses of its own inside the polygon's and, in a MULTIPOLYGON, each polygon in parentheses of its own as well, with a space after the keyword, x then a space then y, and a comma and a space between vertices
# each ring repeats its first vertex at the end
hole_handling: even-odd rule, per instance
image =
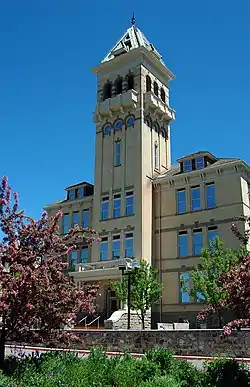
POLYGON ((64 274, 77 243, 92 244, 94 231, 76 227, 59 235, 61 212, 38 221, 19 210, 7 178, 0 183, 0 367, 6 341, 74 339, 64 331, 77 313, 93 313, 97 288, 77 289, 64 274))

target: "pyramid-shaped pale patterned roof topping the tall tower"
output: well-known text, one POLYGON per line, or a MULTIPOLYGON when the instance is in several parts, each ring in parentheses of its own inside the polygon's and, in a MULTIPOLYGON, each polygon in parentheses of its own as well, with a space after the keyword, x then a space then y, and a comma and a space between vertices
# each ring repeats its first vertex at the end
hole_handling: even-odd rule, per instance
POLYGON ((149 42, 146 36, 135 25, 128 28, 125 34, 118 40, 116 45, 109 51, 102 63, 108 62, 115 57, 125 54, 135 48, 145 47, 148 51, 151 51, 157 59, 164 65, 162 56, 156 50, 156 48, 149 42))

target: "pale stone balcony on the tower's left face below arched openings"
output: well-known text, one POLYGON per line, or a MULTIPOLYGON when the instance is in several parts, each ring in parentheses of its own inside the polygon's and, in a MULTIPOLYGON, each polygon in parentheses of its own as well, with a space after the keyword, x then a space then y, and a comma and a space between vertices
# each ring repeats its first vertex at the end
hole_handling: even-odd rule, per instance
POLYGON ((95 121, 101 120, 101 116, 112 116, 113 113, 136 108, 137 103, 138 92, 133 89, 122 94, 117 94, 111 98, 107 98, 104 101, 97 103, 95 121))

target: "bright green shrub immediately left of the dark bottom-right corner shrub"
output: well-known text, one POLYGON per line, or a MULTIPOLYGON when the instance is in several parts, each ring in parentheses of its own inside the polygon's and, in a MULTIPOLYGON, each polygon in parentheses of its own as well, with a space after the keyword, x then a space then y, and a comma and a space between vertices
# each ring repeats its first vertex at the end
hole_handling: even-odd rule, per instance
MULTIPOLYGON (((175 360, 172 363, 171 374, 174 379, 181 383, 182 387, 205 387, 204 372, 186 360, 175 360)), ((214 386, 213 386, 214 387, 214 386)))

